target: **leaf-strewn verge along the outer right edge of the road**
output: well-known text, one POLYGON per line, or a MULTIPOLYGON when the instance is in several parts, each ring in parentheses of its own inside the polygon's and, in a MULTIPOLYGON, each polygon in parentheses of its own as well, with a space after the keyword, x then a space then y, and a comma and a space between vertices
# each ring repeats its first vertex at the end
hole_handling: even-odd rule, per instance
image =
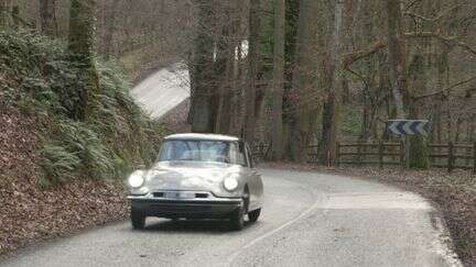
POLYGON ((268 168, 324 173, 390 185, 415 192, 435 207, 432 224, 465 266, 476 266, 476 179, 466 171, 402 171, 378 167, 327 168, 314 165, 264 164, 268 168))

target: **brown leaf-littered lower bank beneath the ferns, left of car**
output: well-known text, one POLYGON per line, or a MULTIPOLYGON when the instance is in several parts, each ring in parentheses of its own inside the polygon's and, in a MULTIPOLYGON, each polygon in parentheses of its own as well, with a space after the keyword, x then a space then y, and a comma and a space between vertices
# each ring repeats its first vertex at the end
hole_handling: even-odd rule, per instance
POLYGON ((0 107, 0 255, 127 216, 121 181, 73 180, 41 190, 39 122, 0 107))

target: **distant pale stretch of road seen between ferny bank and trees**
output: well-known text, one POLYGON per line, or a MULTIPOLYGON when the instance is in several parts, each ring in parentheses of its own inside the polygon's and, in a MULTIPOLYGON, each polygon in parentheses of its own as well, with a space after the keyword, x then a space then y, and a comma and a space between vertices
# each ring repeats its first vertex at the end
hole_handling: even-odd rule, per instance
POLYGON ((133 99, 153 119, 173 110, 190 93, 188 69, 182 63, 154 73, 132 89, 133 99))

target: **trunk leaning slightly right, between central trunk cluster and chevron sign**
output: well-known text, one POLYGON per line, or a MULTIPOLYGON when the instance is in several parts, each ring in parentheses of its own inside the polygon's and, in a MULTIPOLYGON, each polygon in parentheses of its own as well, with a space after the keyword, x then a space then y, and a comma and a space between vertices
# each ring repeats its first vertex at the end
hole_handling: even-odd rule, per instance
POLYGON ((338 101, 339 101, 339 86, 338 74, 340 70, 340 54, 343 52, 344 34, 340 30, 343 26, 343 10, 344 2, 337 1, 334 11, 334 25, 333 33, 329 42, 329 58, 326 60, 327 66, 325 79, 326 82, 326 101, 323 109, 322 121, 322 137, 321 137, 321 152, 320 158, 322 163, 333 164, 336 156, 337 148, 337 121, 338 121, 338 101))

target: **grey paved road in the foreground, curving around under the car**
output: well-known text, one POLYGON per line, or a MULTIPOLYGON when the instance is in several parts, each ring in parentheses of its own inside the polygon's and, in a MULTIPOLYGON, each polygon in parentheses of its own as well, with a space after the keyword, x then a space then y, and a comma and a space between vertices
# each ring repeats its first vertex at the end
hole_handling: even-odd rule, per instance
MULTIPOLYGON (((359 179, 261 170, 262 219, 128 222, 23 251, 6 266, 458 266, 422 198, 359 179)), ((1 264, 0 264, 1 265, 1 264)))

